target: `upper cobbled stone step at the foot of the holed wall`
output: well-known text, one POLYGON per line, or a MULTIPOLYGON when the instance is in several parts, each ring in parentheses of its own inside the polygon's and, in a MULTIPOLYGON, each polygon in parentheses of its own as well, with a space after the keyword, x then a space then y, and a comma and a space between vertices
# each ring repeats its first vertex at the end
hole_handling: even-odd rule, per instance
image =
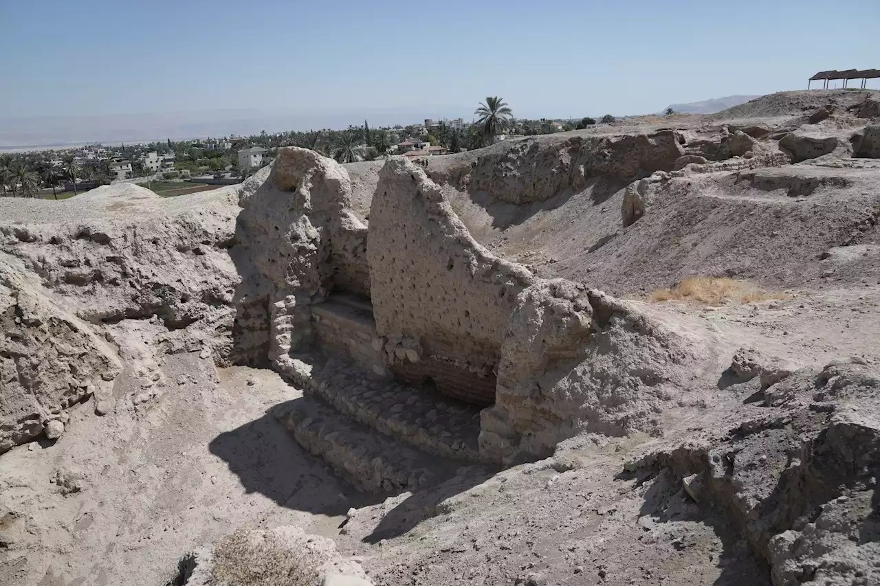
POLYGON ((426 389, 367 376, 331 358, 289 359, 284 371, 342 414, 429 454, 466 462, 480 459, 480 411, 426 389))

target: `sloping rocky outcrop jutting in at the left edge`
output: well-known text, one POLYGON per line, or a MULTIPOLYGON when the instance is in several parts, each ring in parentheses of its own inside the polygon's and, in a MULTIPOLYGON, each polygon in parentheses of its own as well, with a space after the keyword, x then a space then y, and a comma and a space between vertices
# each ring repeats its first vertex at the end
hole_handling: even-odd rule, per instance
POLYGON ((57 439, 67 409, 109 395, 121 365, 112 348, 0 256, 0 454, 43 434, 57 439))

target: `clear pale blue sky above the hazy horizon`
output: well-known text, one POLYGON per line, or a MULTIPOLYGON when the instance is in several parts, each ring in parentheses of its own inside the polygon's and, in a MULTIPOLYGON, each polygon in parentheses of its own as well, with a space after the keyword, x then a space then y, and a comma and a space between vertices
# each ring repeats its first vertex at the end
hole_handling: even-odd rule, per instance
POLYGON ((0 118, 644 114, 880 67, 880 0, 0 0, 0 23, 0 118))

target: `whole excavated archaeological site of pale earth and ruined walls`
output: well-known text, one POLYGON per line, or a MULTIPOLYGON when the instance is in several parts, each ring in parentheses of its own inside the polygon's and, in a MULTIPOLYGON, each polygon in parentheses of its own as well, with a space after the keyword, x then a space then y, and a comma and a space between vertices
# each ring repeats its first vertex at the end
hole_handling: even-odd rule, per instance
POLYGON ((878 219, 869 90, 0 198, 0 584, 880 584, 878 219))

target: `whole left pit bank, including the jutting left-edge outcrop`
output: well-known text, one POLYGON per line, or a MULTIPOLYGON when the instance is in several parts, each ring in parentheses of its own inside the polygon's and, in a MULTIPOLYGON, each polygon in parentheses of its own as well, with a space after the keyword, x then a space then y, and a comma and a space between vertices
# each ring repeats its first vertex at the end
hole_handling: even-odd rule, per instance
POLYGON ((0 451, 57 437, 80 400, 107 407, 113 324, 150 319, 165 351, 229 362, 236 212, 230 189, 165 199, 128 184, 0 203, 0 451))

